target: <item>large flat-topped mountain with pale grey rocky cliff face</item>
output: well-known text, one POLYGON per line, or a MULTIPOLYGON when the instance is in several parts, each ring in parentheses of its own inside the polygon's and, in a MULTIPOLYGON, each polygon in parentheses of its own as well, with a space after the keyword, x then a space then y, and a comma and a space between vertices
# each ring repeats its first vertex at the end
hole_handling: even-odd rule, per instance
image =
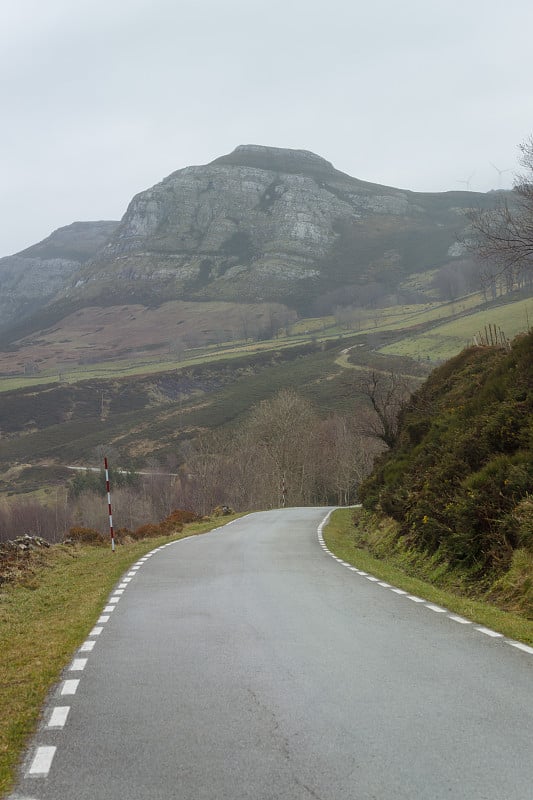
POLYGON ((471 203, 472 193, 416 194, 306 151, 243 145, 137 195, 73 291, 305 305, 377 273, 389 270, 392 285, 444 263, 471 203))

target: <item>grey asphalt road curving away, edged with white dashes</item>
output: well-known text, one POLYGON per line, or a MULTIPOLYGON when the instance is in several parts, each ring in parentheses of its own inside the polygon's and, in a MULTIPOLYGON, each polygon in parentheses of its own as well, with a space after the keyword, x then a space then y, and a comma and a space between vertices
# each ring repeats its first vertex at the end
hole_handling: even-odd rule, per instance
POLYGON ((533 655, 334 561, 325 513, 254 514, 133 570, 12 797, 530 800, 533 655))

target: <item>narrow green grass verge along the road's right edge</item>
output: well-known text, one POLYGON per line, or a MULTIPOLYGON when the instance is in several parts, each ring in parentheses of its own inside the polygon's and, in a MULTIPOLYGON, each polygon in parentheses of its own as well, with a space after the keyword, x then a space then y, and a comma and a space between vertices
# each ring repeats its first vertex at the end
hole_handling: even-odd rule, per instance
POLYGON ((352 509, 339 509, 332 514, 324 529, 324 540, 336 556, 410 594, 424 597, 473 622, 503 633, 510 639, 533 645, 532 620, 503 611, 492 603, 438 588, 415 574, 408 574, 391 560, 375 558, 366 549, 359 547, 352 515, 352 509))

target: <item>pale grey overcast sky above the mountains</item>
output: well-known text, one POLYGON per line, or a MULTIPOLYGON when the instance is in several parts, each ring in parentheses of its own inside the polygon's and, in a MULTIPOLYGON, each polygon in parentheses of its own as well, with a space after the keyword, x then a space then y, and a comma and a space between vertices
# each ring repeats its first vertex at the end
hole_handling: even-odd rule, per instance
POLYGON ((239 144, 507 188, 532 30, 531 0, 1 0, 0 255, 239 144))

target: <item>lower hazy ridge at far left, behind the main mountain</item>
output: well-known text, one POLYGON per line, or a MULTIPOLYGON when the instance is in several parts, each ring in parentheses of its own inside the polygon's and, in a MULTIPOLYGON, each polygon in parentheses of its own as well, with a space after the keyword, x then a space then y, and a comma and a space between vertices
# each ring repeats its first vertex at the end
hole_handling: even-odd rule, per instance
POLYGON ((118 222, 74 222, 0 259, 0 328, 31 315, 68 285, 107 242, 118 222))

